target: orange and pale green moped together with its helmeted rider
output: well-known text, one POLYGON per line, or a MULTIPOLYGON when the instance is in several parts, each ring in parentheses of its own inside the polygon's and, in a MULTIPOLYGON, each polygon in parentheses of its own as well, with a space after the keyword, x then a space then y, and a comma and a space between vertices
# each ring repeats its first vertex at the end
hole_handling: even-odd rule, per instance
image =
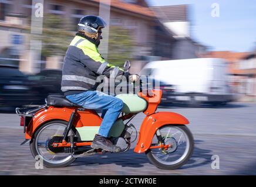
POLYGON ((157 111, 161 89, 156 85, 151 89, 147 77, 143 81, 143 76, 131 76, 127 72, 129 61, 122 70, 100 56, 97 46, 105 26, 99 16, 80 20, 63 64, 65 96, 48 95, 45 105, 16 108, 25 133, 21 145, 29 142, 33 157, 39 155, 46 167, 66 167, 80 157, 125 153, 137 140, 134 153, 146 154, 156 167, 181 167, 194 149, 188 119, 175 112, 157 111), (129 82, 136 82, 136 93, 117 93, 114 97, 100 92, 99 87, 105 84, 99 78, 119 76, 116 79, 122 78, 123 82, 123 75, 126 81, 129 78, 129 82), (102 117, 95 110, 103 110, 102 117), (138 113, 144 113, 143 122, 136 122, 139 131, 130 123, 138 113))

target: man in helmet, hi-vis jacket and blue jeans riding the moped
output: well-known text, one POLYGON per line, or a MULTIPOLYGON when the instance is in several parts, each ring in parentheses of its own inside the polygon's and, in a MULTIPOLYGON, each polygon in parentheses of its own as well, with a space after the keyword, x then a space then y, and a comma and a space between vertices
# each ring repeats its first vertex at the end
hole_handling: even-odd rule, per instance
MULTIPOLYGON (((78 33, 71 41, 64 59, 61 89, 66 98, 86 109, 103 110, 103 121, 93 139, 92 148, 119 152, 107 137, 111 127, 120 115, 123 101, 96 90, 99 75, 116 78, 124 75, 129 80, 129 72, 108 63, 98 51, 102 29, 106 22, 99 16, 84 16, 78 24, 78 33)), ((130 76, 137 81, 138 76, 130 76)))

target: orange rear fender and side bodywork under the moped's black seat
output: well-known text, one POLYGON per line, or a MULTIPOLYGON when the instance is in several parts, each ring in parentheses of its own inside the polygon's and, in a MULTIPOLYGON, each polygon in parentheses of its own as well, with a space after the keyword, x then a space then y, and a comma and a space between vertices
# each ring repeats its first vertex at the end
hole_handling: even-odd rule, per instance
MULTIPOLYGON (((26 128, 25 138, 31 139, 36 129, 38 129, 42 124, 50 122, 52 120, 63 120, 68 122, 70 116, 75 108, 55 108, 50 106, 48 109, 40 110, 33 116, 33 120, 29 123, 26 128)), ((97 115, 93 110, 78 111, 73 122, 75 127, 83 126, 100 126, 102 123, 102 118, 97 115)))

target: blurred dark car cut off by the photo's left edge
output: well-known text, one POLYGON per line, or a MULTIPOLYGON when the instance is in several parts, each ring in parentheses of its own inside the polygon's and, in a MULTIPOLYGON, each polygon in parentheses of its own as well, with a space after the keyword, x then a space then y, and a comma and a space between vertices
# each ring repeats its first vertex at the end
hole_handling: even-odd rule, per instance
POLYGON ((31 82, 17 67, 0 65, 0 108, 29 105, 33 102, 31 82))

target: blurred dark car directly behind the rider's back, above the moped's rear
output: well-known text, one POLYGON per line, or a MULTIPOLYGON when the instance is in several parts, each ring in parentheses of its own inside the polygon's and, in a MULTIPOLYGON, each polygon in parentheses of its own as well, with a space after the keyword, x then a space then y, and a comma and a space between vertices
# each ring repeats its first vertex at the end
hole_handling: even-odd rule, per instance
POLYGON ((32 90, 36 93, 34 103, 41 105, 45 103, 45 98, 49 94, 63 95, 61 91, 61 70, 42 70, 36 75, 30 76, 33 82, 32 90))

